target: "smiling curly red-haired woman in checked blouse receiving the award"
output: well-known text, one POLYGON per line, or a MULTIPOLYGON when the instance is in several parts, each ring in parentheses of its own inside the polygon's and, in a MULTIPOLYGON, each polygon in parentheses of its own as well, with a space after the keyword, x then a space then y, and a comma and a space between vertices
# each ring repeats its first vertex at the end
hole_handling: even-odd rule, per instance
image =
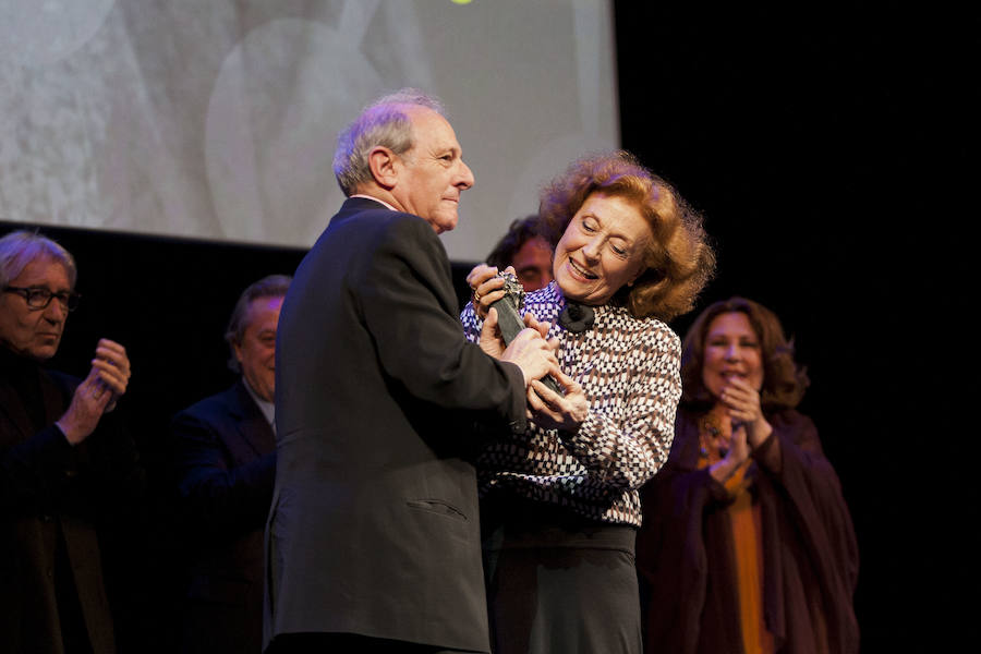
MULTIPOLYGON (((668 457, 681 395, 666 323, 691 310, 715 258, 701 217, 623 152, 573 162, 543 190, 540 214, 561 234, 555 280, 524 311, 560 342, 562 392, 535 382, 526 434, 479 455, 492 645, 637 653, 638 489, 668 457)), ((461 319, 475 342, 505 294, 496 272, 468 277, 461 319)))

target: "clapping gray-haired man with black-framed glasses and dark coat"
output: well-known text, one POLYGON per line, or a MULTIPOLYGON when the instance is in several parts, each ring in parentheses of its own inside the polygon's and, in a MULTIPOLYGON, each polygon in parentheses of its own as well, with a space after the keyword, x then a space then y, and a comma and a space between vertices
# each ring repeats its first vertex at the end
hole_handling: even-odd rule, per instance
POLYGON ((130 361, 98 342, 81 383, 47 371, 74 291, 53 241, 0 239, 0 652, 114 652, 96 519, 140 497, 133 441, 106 414, 130 361))

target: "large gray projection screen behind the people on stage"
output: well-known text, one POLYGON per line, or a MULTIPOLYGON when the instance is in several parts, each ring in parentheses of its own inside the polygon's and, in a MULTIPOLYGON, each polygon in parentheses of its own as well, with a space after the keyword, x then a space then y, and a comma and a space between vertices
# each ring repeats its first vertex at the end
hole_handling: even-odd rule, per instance
POLYGON ((481 261, 537 186, 619 143, 608 0, 0 0, 0 220, 307 247, 335 137, 411 85, 446 104, 481 261))

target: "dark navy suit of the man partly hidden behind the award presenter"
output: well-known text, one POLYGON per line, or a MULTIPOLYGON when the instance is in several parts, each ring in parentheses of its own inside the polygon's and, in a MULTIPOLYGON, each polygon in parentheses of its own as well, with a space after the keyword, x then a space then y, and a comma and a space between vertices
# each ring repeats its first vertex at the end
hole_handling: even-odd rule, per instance
POLYGON ((171 434, 190 562, 183 651, 258 654, 272 427, 240 379, 178 413, 171 434))

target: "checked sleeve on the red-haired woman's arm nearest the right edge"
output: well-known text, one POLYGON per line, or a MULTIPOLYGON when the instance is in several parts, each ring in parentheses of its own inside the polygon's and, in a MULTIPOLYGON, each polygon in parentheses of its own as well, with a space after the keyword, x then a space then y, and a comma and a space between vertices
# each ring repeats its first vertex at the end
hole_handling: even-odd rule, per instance
POLYGON ((590 396, 586 420, 576 433, 559 435, 590 471, 588 486, 637 489, 670 452, 681 397, 681 344, 669 327, 655 323, 642 342, 607 354, 581 382, 590 396))

